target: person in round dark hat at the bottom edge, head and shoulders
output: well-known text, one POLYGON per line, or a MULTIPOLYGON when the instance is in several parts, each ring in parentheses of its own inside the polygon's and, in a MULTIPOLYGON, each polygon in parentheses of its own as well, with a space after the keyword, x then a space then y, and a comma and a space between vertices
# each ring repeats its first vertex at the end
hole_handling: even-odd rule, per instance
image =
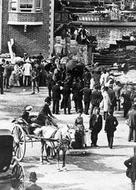
POLYGON ((42 188, 36 184, 37 175, 35 172, 30 173, 29 181, 31 182, 31 185, 27 187, 26 190, 42 190, 42 188))

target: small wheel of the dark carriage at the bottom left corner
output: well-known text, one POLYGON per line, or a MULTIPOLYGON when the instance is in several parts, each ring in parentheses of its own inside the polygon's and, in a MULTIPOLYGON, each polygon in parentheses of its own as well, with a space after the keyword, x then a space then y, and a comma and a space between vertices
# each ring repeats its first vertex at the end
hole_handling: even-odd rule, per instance
POLYGON ((20 164, 15 164, 13 169, 12 169, 12 175, 13 178, 15 178, 16 180, 23 182, 24 181, 24 169, 23 166, 21 166, 20 164))

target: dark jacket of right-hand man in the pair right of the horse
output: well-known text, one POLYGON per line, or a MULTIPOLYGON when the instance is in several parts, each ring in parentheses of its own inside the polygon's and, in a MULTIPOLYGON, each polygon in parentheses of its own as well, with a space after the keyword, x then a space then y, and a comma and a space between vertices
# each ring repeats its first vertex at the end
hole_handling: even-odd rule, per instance
POLYGON ((118 125, 117 118, 113 115, 109 115, 105 122, 105 131, 109 134, 113 134, 116 131, 116 127, 118 125))

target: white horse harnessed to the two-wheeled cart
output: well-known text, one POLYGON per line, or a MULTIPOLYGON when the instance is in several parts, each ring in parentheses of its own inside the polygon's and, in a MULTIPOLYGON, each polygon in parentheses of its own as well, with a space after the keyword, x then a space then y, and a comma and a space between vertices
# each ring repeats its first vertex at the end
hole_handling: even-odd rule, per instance
POLYGON ((62 151, 62 169, 66 169, 66 152, 71 147, 75 138, 75 130, 66 124, 60 124, 59 128, 53 125, 43 126, 34 131, 35 135, 41 135, 41 163, 44 161, 44 149, 46 152, 46 161, 48 160, 48 147, 53 150, 54 156, 57 155, 57 169, 60 171, 60 151, 62 151))

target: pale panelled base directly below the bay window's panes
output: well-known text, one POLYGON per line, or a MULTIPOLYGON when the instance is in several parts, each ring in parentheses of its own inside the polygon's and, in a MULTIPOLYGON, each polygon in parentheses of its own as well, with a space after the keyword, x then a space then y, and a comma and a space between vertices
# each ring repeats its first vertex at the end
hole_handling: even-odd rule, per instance
POLYGON ((9 25, 42 25, 43 13, 9 12, 9 25))

